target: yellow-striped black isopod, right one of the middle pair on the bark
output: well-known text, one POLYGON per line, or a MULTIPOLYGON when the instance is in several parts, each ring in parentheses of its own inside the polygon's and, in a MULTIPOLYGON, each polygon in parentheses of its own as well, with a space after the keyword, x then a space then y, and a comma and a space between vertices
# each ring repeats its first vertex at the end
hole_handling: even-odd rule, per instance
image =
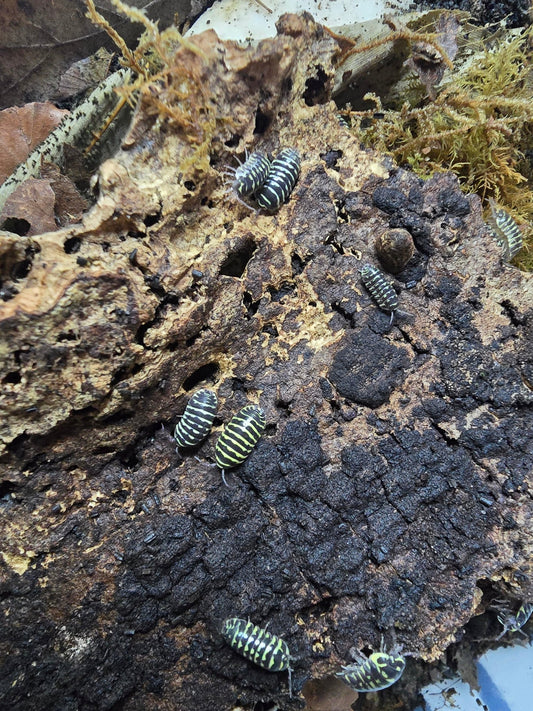
POLYGON ((263 410, 256 405, 246 405, 224 427, 215 445, 215 460, 222 469, 225 484, 224 470, 244 462, 263 434, 265 425, 263 410))

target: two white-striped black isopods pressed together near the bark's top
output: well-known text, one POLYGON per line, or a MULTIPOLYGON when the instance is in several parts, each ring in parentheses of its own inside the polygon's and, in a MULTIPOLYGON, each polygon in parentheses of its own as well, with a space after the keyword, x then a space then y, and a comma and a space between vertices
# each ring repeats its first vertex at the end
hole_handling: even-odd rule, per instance
MULTIPOLYGON (((259 207, 269 212, 279 210, 288 199, 300 174, 300 154, 294 148, 283 148, 273 161, 261 151, 247 155, 233 174, 231 184, 237 199, 255 197, 259 207)), ((244 203, 247 207, 249 205, 244 203)))

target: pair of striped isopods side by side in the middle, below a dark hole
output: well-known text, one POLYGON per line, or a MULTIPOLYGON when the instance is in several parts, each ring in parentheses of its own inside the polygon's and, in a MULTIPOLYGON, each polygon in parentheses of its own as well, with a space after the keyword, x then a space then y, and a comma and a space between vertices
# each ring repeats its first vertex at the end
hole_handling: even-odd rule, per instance
MULTIPOLYGON (((178 447, 195 447, 207 437, 217 410, 217 396, 212 390, 194 393, 174 430, 178 447)), ((215 461, 225 470, 247 459, 266 426, 265 413, 257 405, 245 405, 224 427, 215 445, 215 461)))

